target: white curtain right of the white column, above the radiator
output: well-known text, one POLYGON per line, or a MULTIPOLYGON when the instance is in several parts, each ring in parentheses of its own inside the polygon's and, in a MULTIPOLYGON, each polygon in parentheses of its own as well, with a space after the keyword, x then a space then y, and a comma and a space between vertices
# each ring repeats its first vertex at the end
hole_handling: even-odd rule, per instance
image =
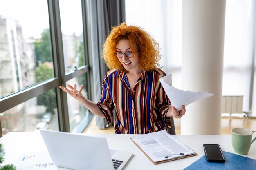
POLYGON ((223 95, 243 95, 243 111, 251 110, 254 117, 256 116, 256 102, 253 106, 253 100, 256 99, 255 15, 254 0, 226 1, 222 86, 223 95))

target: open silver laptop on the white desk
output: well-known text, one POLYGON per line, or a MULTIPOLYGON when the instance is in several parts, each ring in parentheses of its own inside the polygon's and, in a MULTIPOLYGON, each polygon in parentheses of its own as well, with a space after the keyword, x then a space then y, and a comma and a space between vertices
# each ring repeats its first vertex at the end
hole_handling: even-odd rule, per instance
POLYGON ((40 133, 59 170, 121 170, 132 157, 132 152, 110 150, 103 137, 52 130, 40 133))

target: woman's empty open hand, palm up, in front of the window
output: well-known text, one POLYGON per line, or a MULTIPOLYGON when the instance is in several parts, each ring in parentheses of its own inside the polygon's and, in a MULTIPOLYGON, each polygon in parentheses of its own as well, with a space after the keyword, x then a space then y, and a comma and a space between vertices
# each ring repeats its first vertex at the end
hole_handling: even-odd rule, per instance
POLYGON ((85 97, 82 94, 83 85, 81 85, 79 91, 76 90, 76 84, 74 84, 74 87, 67 84, 67 87, 60 86, 60 88, 71 95, 74 99, 77 99, 79 102, 83 102, 85 100, 85 97))

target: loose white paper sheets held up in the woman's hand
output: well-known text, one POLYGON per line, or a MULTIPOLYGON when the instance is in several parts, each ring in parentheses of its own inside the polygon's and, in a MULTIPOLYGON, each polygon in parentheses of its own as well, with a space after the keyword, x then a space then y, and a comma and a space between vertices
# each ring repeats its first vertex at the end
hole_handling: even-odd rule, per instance
POLYGON ((197 100, 211 97, 213 94, 207 92, 193 92, 193 91, 183 91, 172 86, 171 74, 166 75, 159 79, 164 91, 166 92, 171 104, 178 110, 182 110, 182 105, 191 104, 197 100))

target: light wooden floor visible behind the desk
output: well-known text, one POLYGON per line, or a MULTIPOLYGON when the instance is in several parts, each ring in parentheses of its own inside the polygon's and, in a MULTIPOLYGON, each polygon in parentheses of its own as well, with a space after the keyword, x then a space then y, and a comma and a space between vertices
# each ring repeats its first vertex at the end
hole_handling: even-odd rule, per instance
MULTIPOLYGON (((176 134, 180 135, 180 119, 174 119, 176 134)), ((232 117, 229 121, 229 117, 222 117, 221 119, 221 135, 231 135, 232 128, 247 128, 250 130, 256 130, 256 117, 250 118, 240 118, 232 117)), ((92 119, 88 127, 83 131, 83 133, 93 134, 93 133, 115 133, 114 127, 109 126, 106 129, 99 129, 96 125, 95 118, 92 119)))

